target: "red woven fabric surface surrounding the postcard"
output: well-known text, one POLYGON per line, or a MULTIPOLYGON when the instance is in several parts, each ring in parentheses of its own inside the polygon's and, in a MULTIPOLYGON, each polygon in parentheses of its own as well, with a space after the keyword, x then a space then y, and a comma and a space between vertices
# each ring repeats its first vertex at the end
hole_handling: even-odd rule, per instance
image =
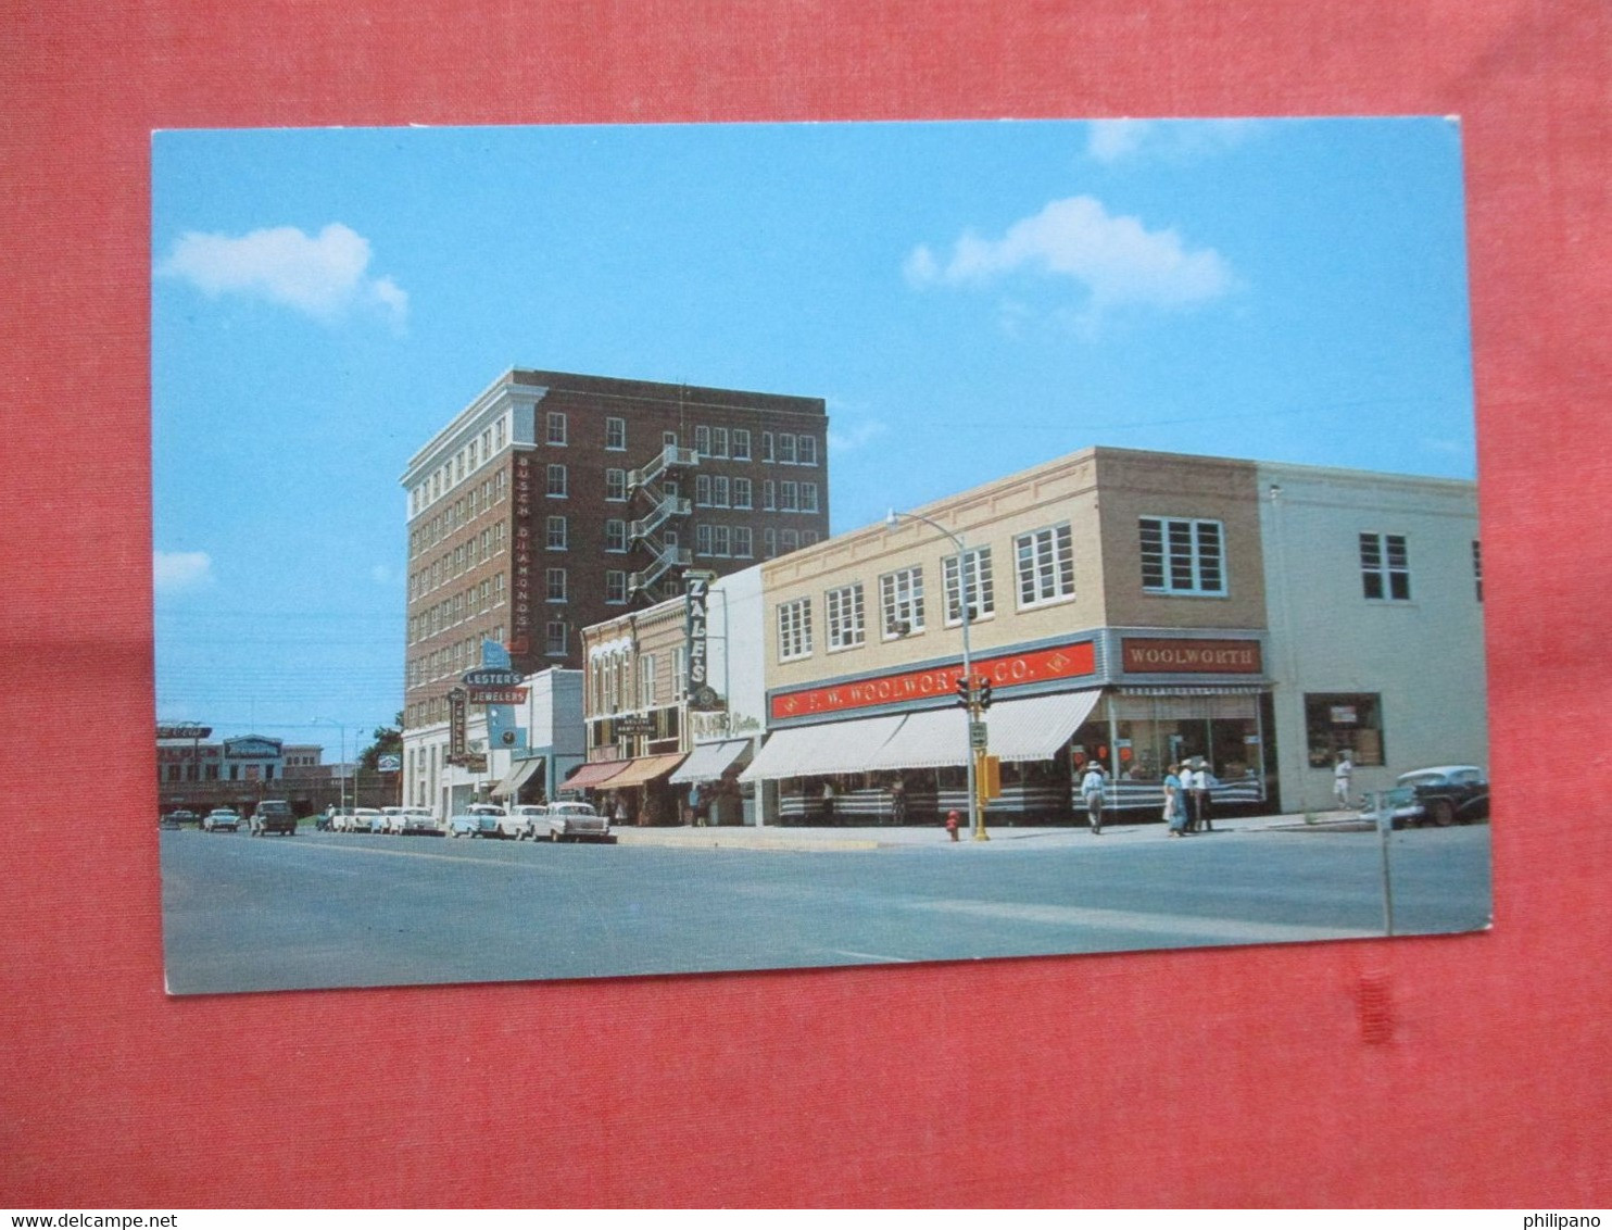
POLYGON ((1604 0, 3 0, 0 1203, 1612 1204, 1609 45, 1604 0), (1491 933, 164 996, 150 129, 1359 113, 1465 123, 1491 933))

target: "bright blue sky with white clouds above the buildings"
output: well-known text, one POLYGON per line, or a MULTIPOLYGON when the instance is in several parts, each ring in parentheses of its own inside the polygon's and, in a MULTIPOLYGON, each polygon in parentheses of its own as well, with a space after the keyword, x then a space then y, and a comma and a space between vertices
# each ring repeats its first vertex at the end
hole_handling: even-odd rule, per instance
POLYGON ((160 132, 152 260, 158 716, 332 758, 513 366, 825 398, 837 532, 1088 445, 1473 477, 1440 118, 160 132))

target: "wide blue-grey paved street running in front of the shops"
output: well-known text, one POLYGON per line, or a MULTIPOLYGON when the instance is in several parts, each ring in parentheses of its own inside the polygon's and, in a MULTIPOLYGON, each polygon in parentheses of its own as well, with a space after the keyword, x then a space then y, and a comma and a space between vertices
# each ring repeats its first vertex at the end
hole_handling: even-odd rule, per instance
MULTIPOLYGON (((169 990, 571 979, 1383 933, 1380 837, 624 830, 613 846, 161 833, 169 990)), ((1398 933, 1489 917, 1488 825, 1393 837, 1398 933)))

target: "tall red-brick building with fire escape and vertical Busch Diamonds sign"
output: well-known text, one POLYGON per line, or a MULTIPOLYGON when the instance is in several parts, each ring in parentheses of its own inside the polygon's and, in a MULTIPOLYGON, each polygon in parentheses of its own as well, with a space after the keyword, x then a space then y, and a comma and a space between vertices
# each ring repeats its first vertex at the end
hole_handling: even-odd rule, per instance
MULTIPOLYGON (((829 532, 821 398, 511 369, 403 474, 405 777, 440 783, 484 640, 582 669, 580 629, 829 532)), ((438 787, 427 796, 435 800, 438 787)))

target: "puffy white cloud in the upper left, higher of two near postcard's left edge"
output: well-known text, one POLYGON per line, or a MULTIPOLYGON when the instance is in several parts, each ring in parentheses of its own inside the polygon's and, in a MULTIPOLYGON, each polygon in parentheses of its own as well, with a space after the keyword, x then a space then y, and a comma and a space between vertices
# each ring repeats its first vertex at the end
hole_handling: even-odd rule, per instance
POLYGON ((156 272, 179 277, 208 295, 248 295, 327 324, 353 308, 380 313, 393 327, 408 316, 408 293, 390 277, 371 277, 369 240, 330 222, 318 235, 293 226, 251 231, 239 239, 187 231, 156 272))

